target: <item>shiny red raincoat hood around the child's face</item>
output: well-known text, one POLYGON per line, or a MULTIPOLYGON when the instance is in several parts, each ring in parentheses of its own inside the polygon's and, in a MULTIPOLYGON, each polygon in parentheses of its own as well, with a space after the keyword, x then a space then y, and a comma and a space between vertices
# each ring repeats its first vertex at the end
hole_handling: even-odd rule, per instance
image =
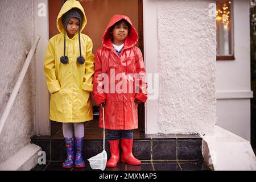
MULTIPOLYGON (((112 36, 110 35, 109 28, 113 26, 115 23, 117 23, 119 20, 125 19, 127 22, 131 24, 131 20, 128 16, 125 15, 114 15, 112 19, 110 19, 110 22, 108 26, 106 27, 106 30, 102 36, 101 42, 103 46, 108 47, 108 48, 113 48, 111 38, 112 36)), ((138 42, 139 36, 134 28, 133 24, 131 24, 129 34, 127 38, 125 39, 125 48, 127 47, 132 47, 138 42)))

